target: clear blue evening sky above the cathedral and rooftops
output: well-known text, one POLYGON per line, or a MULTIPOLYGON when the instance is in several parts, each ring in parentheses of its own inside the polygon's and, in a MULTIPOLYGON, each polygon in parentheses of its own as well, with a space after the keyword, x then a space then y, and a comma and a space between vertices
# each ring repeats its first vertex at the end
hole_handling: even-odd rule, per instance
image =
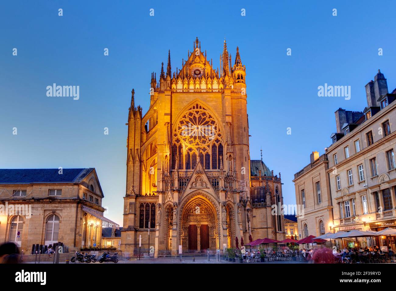
POLYGON ((293 175, 330 145, 335 110, 362 111, 379 68, 389 91, 396 87, 395 11, 386 0, 4 2, 0 167, 95 167, 106 216, 122 225, 131 89, 144 114, 150 73, 159 75, 168 49, 172 70, 180 68, 198 36, 218 67, 226 37, 232 61, 239 46, 246 65, 251 159, 262 147, 282 174, 284 202, 294 204, 293 175), (80 99, 47 97, 53 83, 80 86, 80 99), (318 97, 325 83, 351 86, 350 100, 318 97))

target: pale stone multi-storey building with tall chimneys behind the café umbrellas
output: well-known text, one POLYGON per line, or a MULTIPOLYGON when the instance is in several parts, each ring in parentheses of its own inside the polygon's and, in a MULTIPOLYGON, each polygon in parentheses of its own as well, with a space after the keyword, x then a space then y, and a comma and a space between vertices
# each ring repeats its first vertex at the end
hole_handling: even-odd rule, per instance
MULTIPOLYGON (((332 144, 323 154, 328 167, 327 177, 322 181, 328 183, 325 187, 330 189, 331 199, 320 199, 322 193, 317 187, 304 193, 314 198, 311 204, 316 207, 331 209, 332 215, 324 217, 326 232, 379 231, 396 226, 396 89, 388 93, 386 78, 380 70, 365 88, 367 106, 363 111, 342 108, 335 111, 337 130, 331 134, 332 144)), ((301 171, 293 180, 297 203, 303 201, 299 173, 301 171)), ((305 177, 311 183, 314 179, 314 173, 305 177)), ((302 221, 303 218, 298 217, 299 226, 302 221)), ((311 232, 317 232, 318 227, 311 227, 311 232)), ((311 232, 308 231, 316 235, 311 232)), ((341 244, 341 240, 335 243, 341 244)), ((343 243, 352 247, 396 247, 393 236, 344 238, 343 243)))

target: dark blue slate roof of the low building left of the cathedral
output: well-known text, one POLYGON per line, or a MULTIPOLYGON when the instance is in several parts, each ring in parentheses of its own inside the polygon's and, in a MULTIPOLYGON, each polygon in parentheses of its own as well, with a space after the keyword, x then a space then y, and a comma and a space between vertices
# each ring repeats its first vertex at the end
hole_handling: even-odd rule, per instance
POLYGON ((94 169, 0 169, 0 184, 79 183, 94 169))

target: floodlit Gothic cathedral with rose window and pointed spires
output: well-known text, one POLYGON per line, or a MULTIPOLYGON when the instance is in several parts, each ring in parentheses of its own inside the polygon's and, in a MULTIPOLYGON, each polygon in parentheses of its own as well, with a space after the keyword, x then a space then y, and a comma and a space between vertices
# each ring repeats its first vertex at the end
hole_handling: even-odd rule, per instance
POLYGON ((180 68, 151 74, 150 108, 128 116, 128 154, 121 249, 155 255, 235 247, 236 238, 283 240, 280 174, 251 161, 246 67, 234 65, 224 41, 220 69, 198 38, 180 68))

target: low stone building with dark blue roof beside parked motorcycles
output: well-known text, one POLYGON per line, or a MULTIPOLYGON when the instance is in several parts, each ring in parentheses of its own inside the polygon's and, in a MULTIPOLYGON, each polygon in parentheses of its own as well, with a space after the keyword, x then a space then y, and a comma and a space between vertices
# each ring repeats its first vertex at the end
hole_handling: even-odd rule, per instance
POLYGON ((0 244, 25 254, 57 243, 100 247, 102 226, 119 228, 103 216, 103 198, 95 168, 0 169, 0 244))

